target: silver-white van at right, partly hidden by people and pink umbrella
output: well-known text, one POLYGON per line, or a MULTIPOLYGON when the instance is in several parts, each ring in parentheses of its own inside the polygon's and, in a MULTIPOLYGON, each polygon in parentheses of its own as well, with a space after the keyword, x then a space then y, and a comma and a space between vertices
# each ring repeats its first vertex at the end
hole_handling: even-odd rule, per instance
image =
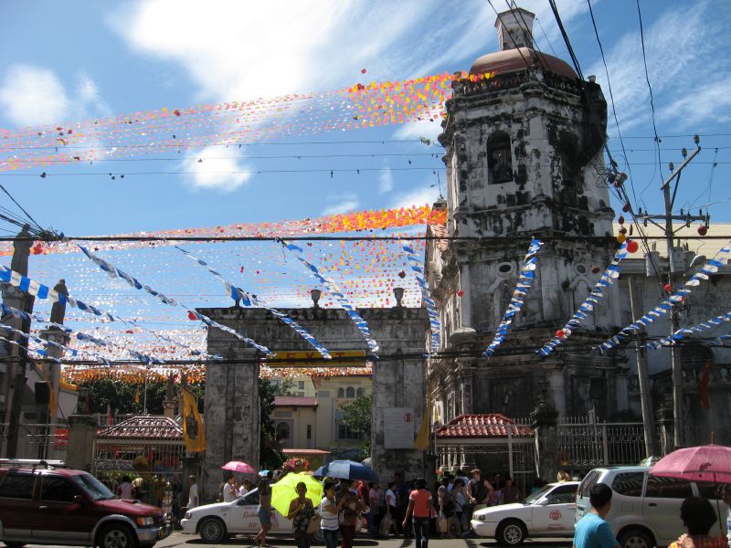
MULTIPOLYGON (((688 497, 703 497, 714 508, 717 495, 713 483, 651 476, 648 467, 625 466, 591 470, 577 489, 576 521, 591 510, 589 491, 597 483, 609 485, 611 509, 606 517, 622 548, 667 546, 685 532, 680 507, 688 497)), ((722 519, 728 508, 718 501, 722 519)), ((718 522, 711 529, 717 535, 718 522)))

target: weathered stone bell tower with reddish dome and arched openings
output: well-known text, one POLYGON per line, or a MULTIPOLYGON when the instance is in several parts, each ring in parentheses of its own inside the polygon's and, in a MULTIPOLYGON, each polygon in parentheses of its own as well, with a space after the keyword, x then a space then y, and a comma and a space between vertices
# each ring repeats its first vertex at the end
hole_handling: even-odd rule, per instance
MULTIPOLYGON (((533 19, 520 8, 498 16, 500 50, 453 82, 442 122, 448 195, 439 206, 448 221, 429 230, 489 239, 428 243, 442 349, 469 354, 429 373, 440 422, 463 413, 527 416, 542 393, 559 415, 617 410, 611 358, 535 354, 588 296, 616 241, 602 155, 607 103, 598 84, 533 48, 533 19), (493 340, 531 237, 545 245, 523 311, 492 358, 473 357, 493 340)), ((617 300, 612 288, 571 342, 608 335, 620 323, 617 300)))

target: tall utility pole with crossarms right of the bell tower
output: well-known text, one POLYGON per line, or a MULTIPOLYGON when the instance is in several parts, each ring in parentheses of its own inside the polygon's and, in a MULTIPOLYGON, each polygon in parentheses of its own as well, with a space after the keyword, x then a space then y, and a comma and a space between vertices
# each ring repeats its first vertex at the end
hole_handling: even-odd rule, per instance
MULTIPOLYGON (((689 226, 692 221, 703 221, 708 223, 708 213, 703 215, 703 211, 699 215, 691 215, 690 211, 686 215, 673 215, 673 205, 675 204, 675 196, 678 193, 678 186, 680 185, 680 176, 683 169, 690 163, 698 153, 701 152, 701 146, 699 144, 700 139, 698 135, 694 136, 694 142, 696 145, 695 150, 688 155, 687 151, 683 149, 683 163, 681 163, 677 169, 674 169, 673 163, 670 164, 671 174, 662 182, 660 190, 665 202, 665 212, 662 215, 640 215, 638 218, 650 221, 656 227, 660 227, 665 234, 665 243, 668 248, 668 274, 667 280, 668 285, 673 292, 674 281, 678 274, 683 274, 684 266, 678 265, 675 260, 675 253, 673 249, 673 237, 675 235, 673 230, 673 221, 683 221, 684 226, 689 226), (675 181, 675 187, 671 195, 670 185, 675 181), (653 219, 664 221, 664 226, 660 223, 655 222, 653 219)), ((701 233, 703 236, 705 232, 701 233)), ((676 307, 670 311, 670 334, 674 334, 678 331, 678 311, 676 307)), ((671 369, 673 373, 673 445, 675 448, 683 447, 683 364, 681 363, 680 354, 676 345, 670 345, 670 360, 671 369)))

